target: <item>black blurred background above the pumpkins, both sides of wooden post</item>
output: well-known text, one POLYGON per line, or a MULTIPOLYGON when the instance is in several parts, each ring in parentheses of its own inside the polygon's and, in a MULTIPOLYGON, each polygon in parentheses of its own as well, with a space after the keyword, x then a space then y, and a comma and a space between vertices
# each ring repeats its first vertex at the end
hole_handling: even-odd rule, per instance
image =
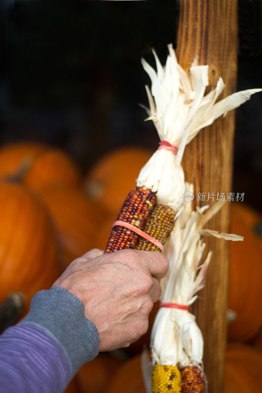
MULTIPOLYGON (((238 4, 237 90, 262 87, 260 0, 238 4)), ((1 3, 0 144, 34 140, 83 169, 119 145, 154 150, 140 59, 176 46, 175 0, 1 3)), ((223 77, 223 75, 222 75, 223 77)), ((236 111, 233 192, 262 210, 262 94, 236 111)))

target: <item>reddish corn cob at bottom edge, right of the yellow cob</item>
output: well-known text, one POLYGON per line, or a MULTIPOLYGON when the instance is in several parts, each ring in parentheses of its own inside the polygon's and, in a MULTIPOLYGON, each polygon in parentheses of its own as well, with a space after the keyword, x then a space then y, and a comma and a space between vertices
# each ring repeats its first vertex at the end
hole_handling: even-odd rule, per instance
POLYGON ((204 393, 205 381, 200 368, 193 365, 181 370, 182 393, 204 393))

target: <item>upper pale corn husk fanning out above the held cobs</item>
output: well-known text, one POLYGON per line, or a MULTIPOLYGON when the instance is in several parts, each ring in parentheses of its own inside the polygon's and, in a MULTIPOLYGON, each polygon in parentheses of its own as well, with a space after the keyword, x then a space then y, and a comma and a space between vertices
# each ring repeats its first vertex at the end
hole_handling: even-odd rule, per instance
POLYGON ((157 192, 157 203, 168 203, 175 211, 182 205, 185 193, 184 172, 181 160, 184 149, 199 131, 221 115, 238 107, 262 89, 234 93, 216 103, 224 89, 219 78, 216 88, 204 95, 208 85, 208 66, 195 60, 189 76, 177 63, 172 45, 168 46, 166 65, 162 66, 153 51, 156 71, 142 59, 151 79, 151 89, 146 86, 149 109, 147 120, 152 120, 160 140, 167 140, 178 147, 176 156, 168 150, 156 150, 137 179, 138 186, 157 192))

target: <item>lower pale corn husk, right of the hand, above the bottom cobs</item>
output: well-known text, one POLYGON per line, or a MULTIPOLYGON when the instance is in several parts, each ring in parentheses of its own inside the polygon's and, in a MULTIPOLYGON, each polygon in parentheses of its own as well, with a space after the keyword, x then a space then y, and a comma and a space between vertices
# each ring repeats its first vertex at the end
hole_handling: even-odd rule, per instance
MULTIPOLYGON (((192 186, 190 187, 192 192, 192 186)), ((204 276, 210 262, 211 252, 204 258, 206 232, 226 240, 243 240, 241 236, 219 233, 203 226, 216 214, 225 202, 219 201, 211 208, 203 206, 192 211, 191 203, 175 222, 171 238, 165 248, 169 255, 169 272, 161 282, 164 303, 173 302, 190 306, 197 293, 204 287, 204 276)), ((162 365, 202 365, 203 336, 189 311, 159 309, 151 334, 153 362, 162 365)))

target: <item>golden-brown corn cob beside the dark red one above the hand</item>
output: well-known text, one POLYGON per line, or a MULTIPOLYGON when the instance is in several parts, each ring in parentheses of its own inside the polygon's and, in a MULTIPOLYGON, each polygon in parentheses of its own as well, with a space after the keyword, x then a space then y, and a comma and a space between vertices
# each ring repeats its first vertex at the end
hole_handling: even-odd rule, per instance
MULTIPOLYGON (((144 232, 152 236, 154 239, 158 240, 160 243, 166 243, 170 233, 175 225, 174 222, 175 211, 172 207, 167 205, 157 205, 149 217, 144 232)), ((146 250, 146 251, 160 251, 160 249, 149 240, 140 237, 136 250, 146 250)))

